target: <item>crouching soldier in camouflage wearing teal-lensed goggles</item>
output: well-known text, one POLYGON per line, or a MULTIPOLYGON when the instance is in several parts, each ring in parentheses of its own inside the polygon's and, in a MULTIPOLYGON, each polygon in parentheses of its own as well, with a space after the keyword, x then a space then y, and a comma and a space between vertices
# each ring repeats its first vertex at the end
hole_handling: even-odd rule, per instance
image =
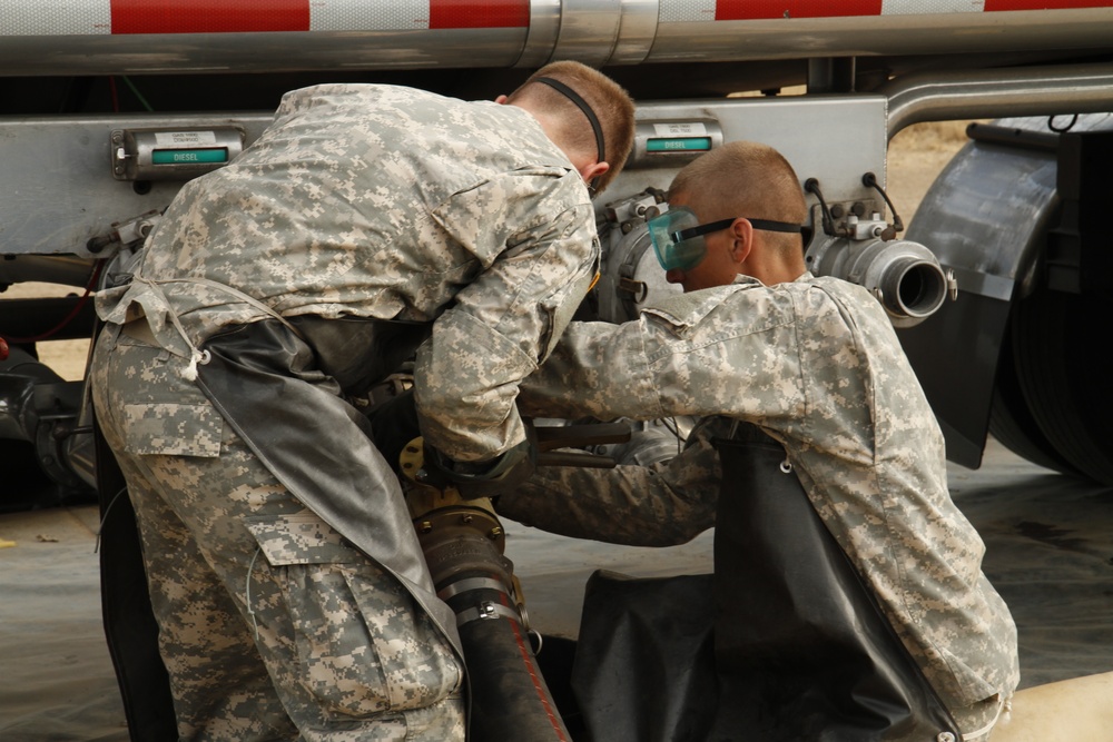
POLYGON ((703 156, 677 176, 669 202, 693 207, 699 222, 722 220, 701 261, 669 270, 684 293, 622 325, 572 323, 523 385, 520 408, 700 423, 671 461, 539 469, 501 495, 499 512, 575 537, 683 543, 715 525, 712 441, 756 425, 784 445, 964 739, 986 739, 1018 682, 1016 630, 981 572, 978 534, 949 497, 942 433, 880 304, 807 273, 800 236, 769 230, 800 225, 807 207, 768 147, 703 156))

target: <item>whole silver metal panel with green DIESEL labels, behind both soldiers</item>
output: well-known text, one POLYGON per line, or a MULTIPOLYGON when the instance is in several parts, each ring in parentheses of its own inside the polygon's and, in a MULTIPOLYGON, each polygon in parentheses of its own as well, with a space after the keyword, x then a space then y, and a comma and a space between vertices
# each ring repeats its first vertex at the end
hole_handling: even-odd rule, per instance
MULTIPOLYGON (((232 159, 240 145, 258 138, 272 116, 0 119, 0 255, 96 257, 89 245, 110 234, 114 224, 165 209, 185 179, 204 171, 196 160, 225 148, 232 159), (191 139, 164 149, 176 147, 187 159, 156 162, 159 142, 180 140, 183 132, 191 139)), ((887 138, 879 96, 647 102, 637 116, 634 152, 622 176, 597 199, 600 208, 600 201, 648 186, 667 188, 693 157, 736 139, 777 147, 801 180, 817 178, 833 201, 869 197, 860 182, 866 171, 884 181, 887 138)))

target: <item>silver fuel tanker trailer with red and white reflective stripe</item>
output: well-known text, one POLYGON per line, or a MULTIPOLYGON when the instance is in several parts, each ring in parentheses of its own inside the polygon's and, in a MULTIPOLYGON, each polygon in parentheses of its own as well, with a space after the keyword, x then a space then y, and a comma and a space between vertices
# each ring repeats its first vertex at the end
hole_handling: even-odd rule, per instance
MULTIPOLYGON (((83 382, 39 350, 93 336, 90 295, 284 92, 367 81, 493 99, 559 59, 638 101, 628 165, 597 198, 585 318, 622 321, 674 290, 647 219, 684 164, 762 141, 804 180, 811 269, 876 295, 949 457, 977 467, 992 433, 1113 483, 1111 368, 1092 332, 1113 313, 1113 0, 8 0, 0 37, 0 497, 20 477, 57 496, 111 484, 83 382), (905 225, 887 146, 928 120, 977 123, 905 225)), ((114 527, 108 552, 128 542, 114 527)), ((106 576, 126 572, 116 556, 106 576)), ((106 616, 138 631, 120 584, 106 578, 106 616)), ((128 701, 134 730, 145 709, 128 701)))

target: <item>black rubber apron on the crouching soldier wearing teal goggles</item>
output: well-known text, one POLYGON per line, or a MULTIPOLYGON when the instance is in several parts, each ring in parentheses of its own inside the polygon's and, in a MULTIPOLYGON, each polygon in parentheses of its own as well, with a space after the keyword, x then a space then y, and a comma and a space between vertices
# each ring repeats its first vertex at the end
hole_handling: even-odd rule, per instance
POLYGON ((961 739, 784 449, 717 446, 713 576, 589 583, 572 683, 591 739, 961 739))

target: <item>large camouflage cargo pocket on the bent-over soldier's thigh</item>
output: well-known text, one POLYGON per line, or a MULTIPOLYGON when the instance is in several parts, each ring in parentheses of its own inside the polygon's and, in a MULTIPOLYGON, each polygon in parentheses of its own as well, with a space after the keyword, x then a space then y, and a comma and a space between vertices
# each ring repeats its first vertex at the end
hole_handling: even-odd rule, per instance
POLYGON ((410 593, 334 528, 312 513, 246 525, 289 612, 294 671, 326 716, 420 709, 460 684, 451 645, 410 593))

